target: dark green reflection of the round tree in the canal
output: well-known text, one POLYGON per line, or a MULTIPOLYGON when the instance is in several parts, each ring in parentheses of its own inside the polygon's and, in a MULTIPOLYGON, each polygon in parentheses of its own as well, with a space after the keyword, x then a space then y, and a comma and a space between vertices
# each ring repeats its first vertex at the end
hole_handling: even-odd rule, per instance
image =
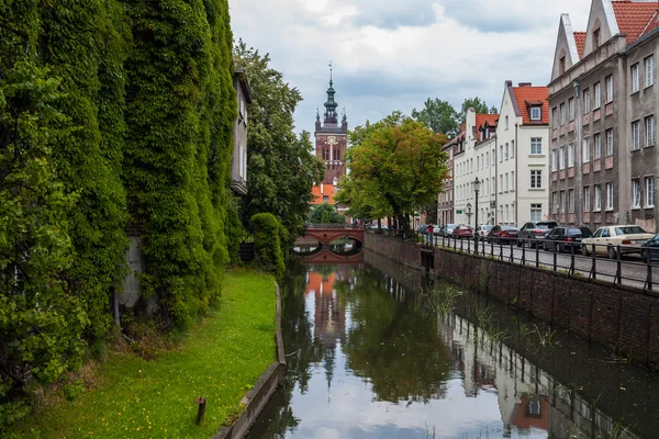
POLYGON ((444 397, 450 360, 435 318, 396 303, 382 291, 384 277, 370 271, 356 274, 351 284, 335 284, 351 308, 344 345, 349 368, 372 384, 380 401, 444 397))

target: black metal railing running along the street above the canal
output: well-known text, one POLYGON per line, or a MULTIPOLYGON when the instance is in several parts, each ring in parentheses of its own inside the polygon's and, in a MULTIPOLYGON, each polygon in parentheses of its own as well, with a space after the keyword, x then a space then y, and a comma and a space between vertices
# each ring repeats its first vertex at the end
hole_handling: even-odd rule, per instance
POLYGON ((478 255, 522 266, 625 284, 645 292, 659 290, 659 270, 652 263, 659 260, 659 248, 652 251, 640 245, 581 244, 545 239, 451 237, 427 233, 383 230, 423 247, 439 247, 468 255, 478 255), (530 247, 529 247, 530 245, 530 247), (643 257, 641 257, 643 255, 643 257))

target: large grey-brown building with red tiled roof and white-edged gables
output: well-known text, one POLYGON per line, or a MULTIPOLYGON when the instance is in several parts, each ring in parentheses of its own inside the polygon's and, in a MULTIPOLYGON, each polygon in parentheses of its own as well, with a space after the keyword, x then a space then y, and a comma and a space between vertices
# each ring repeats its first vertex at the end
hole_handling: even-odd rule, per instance
POLYGON ((550 217, 656 230, 656 1, 593 0, 588 29, 560 18, 549 83, 550 217))

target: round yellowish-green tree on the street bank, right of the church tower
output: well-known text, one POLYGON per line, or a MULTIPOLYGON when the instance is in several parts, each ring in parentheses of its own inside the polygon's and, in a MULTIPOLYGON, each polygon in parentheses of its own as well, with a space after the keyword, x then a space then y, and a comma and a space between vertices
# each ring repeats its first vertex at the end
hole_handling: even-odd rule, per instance
POLYGON ((386 203, 409 230, 407 214, 415 206, 431 205, 442 191, 448 170, 442 150, 446 138, 400 112, 356 128, 346 155, 350 173, 344 188, 349 191, 340 202, 362 209, 365 198, 373 196, 379 209, 386 203))

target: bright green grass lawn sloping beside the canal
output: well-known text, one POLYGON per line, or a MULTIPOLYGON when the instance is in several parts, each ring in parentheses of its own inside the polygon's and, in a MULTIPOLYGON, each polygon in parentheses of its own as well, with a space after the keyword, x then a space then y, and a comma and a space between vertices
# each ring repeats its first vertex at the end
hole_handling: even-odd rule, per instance
POLYGON ((192 328, 180 348, 147 361, 111 352, 98 386, 74 402, 29 416, 15 431, 41 438, 210 438, 276 360, 273 279, 247 269, 226 273, 222 305, 192 328), (205 417, 197 419, 197 396, 205 417))

